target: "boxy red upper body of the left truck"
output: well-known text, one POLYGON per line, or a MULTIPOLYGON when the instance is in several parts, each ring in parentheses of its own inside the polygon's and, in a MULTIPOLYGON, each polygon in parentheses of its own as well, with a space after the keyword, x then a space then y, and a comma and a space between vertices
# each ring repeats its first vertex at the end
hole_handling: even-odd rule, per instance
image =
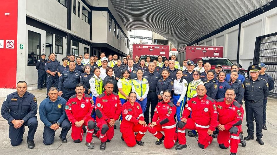
POLYGON ((169 45, 133 44, 133 59, 135 56, 161 55, 169 58, 169 45))

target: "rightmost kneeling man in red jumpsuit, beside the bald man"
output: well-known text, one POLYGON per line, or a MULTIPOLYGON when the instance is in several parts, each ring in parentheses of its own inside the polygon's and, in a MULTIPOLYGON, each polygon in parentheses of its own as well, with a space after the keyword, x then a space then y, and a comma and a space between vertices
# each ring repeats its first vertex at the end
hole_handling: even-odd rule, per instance
POLYGON ((219 147, 227 149, 231 146, 231 155, 237 154, 238 144, 246 146, 242 134, 242 117, 244 110, 242 106, 235 101, 235 90, 227 89, 225 98, 216 100, 218 111, 218 137, 219 147))

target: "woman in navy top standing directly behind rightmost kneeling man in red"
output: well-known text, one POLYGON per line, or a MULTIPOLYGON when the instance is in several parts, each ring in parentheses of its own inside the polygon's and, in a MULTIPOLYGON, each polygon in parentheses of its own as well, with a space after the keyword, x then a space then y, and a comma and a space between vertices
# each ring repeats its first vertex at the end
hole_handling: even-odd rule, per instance
POLYGON ((218 80, 216 80, 216 84, 218 87, 216 100, 220 98, 225 98, 226 90, 230 88, 230 85, 227 81, 225 81, 225 78, 226 78, 226 72, 220 71, 218 74, 218 80))

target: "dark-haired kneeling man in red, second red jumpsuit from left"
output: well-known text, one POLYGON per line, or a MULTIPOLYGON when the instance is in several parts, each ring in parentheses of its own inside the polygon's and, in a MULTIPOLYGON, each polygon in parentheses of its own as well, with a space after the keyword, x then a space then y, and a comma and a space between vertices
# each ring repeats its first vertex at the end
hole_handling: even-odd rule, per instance
POLYGON ((101 140, 100 150, 105 150, 106 142, 110 142, 113 138, 113 126, 121 114, 121 102, 118 94, 113 92, 113 87, 113 83, 108 81, 105 92, 96 98, 96 124, 100 129, 96 136, 101 140))

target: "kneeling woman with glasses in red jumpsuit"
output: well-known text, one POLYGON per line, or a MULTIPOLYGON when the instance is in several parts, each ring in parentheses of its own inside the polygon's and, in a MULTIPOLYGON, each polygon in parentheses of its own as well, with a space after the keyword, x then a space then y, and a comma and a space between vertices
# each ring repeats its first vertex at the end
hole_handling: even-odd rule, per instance
POLYGON ((162 141, 164 140, 164 147, 170 149, 178 139, 178 134, 175 133, 176 122, 174 120, 176 106, 170 102, 171 91, 164 90, 162 98, 163 101, 158 102, 155 108, 152 123, 149 123, 148 131, 158 138, 156 145, 162 144, 162 141), (164 135, 161 131, 164 132, 164 135))

